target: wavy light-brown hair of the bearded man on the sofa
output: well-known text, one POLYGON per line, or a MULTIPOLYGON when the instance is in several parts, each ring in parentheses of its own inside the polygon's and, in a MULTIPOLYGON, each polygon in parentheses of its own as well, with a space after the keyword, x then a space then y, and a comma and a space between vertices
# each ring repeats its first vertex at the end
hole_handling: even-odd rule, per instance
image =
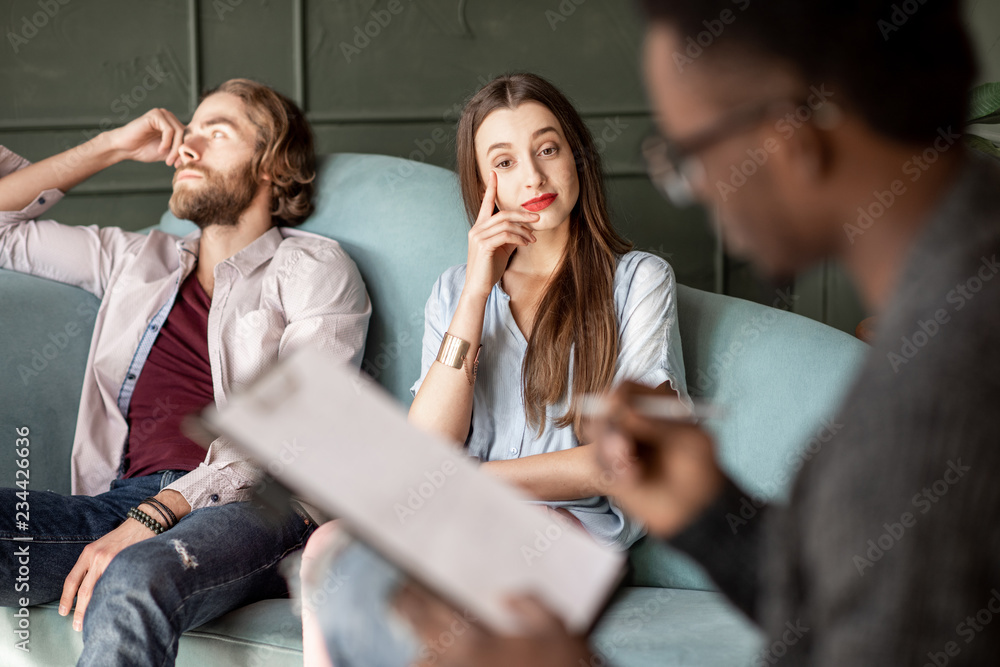
POLYGON ((316 152, 305 114, 290 99, 250 79, 230 79, 202 96, 228 93, 243 100, 257 127, 251 168, 254 178, 271 177, 271 222, 295 227, 313 212, 316 152))

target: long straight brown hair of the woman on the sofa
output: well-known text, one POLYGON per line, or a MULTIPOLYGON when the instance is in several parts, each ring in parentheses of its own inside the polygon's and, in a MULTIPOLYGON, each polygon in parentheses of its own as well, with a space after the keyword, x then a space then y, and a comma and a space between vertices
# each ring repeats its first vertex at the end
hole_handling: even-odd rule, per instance
POLYGON ((497 77, 469 100, 458 122, 458 175, 465 209, 475 224, 486 192, 476 162, 476 132, 493 111, 515 109, 529 101, 545 105, 562 126, 573 152, 580 195, 570 213, 569 241, 538 304, 528 338, 521 370, 524 409, 528 423, 541 435, 546 408, 565 399, 570 389, 572 358, 569 409, 555 424, 572 425, 580 439, 581 397, 607 390, 614 379, 619 351, 614 276, 619 256, 632 249, 608 216, 601 158, 590 130, 566 96, 542 77, 530 73, 497 77))

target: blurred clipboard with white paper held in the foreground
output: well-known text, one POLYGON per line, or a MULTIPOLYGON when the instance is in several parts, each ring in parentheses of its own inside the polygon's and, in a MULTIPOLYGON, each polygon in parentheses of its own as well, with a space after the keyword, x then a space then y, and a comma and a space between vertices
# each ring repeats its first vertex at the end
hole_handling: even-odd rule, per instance
POLYGON ((296 351, 197 421, 198 439, 229 438, 499 634, 521 631, 505 604, 513 594, 534 595, 571 632, 587 632, 624 574, 624 553, 528 504, 535 499, 411 425, 374 381, 320 349, 296 351))

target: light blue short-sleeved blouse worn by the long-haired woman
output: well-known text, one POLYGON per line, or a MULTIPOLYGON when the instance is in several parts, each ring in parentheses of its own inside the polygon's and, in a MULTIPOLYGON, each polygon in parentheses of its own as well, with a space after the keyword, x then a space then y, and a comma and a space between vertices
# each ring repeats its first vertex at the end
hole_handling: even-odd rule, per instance
MULTIPOLYGON (((434 284, 424 311, 420 379, 410 389, 414 396, 437 358, 464 286, 464 264, 446 270, 434 284)), ((690 401, 677 328, 676 283, 670 265, 645 252, 623 255, 615 271, 614 300, 620 347, 614 382, 628 379, 651 387, 669 382, 682 400, 690 401)), ((528 343, 511 314, 510 296, 499 283, 486 302, 482 345, 473 393, 472 429, 466 441, 469 454, 481 461, 504 461, 579 445, 572 426, 557 428, 554 424, 566 413, 568 400, 549 406, 541 437, 527 423, 521 368, 528 343)), ((603 496, 545 504, 565 507, 598 542, 615 548, 627 549, 645 532, 638 521, 626 517, 603 496)))

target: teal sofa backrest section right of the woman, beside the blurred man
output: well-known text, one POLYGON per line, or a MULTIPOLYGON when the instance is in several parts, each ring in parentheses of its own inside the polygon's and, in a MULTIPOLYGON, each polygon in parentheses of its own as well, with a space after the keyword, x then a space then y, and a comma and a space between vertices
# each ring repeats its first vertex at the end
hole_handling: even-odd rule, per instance
MULTIPOLYGON (((757 499, 782 501, 808 457, 839 428, 837 407, 868 346, 814 320, 758 303, 677 287, 684 370, 692 396, 725 416, 706 423, 722 467, 757 499)), ((683 554, 644 538, 632 547, 630 582, 710 590, 683 554)))

